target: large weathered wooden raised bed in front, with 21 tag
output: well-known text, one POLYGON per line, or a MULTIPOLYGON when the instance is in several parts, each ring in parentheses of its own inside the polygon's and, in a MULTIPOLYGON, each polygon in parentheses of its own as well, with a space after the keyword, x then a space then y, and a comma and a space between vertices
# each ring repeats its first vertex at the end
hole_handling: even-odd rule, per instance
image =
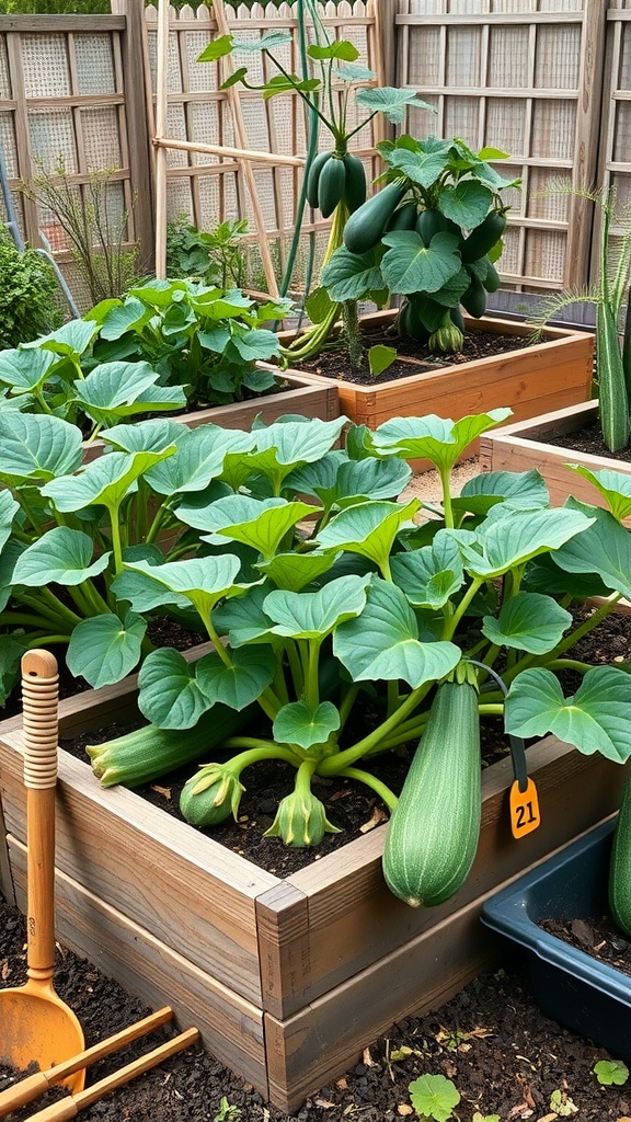
MULTIPOLYGON (((135 710, 132 681, 61 703, 61 735, 135 710)), ((221 1063, 293 1112, 393 1021, 439 1006, 499 958, 485 899, 614 811, 625 769, 555 737, 528 749, 542 826, 509 827, 509 760, 483 774, 478 854, 460 893, 413 910, 387 891, 385 827, 281 880, 60 752, 57 936, 146 1004, 198 1024, 221 1063)), ((0 726, 1 888, 25 904, 21 732, 0 726)))

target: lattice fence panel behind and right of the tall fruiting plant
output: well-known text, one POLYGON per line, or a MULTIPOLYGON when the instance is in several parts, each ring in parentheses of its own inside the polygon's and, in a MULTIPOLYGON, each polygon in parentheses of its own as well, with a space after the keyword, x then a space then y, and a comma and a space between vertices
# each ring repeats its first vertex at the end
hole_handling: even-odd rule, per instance
MULTIPOLYGON (((409 111, 406 128, 420 138, 458 136, 475 149, 510 153, 510 171, 502 164, 497 171, 519 176, 522 188, 505 196, 512 210, 500 269, 512 283, 522 278, 524 288, 584 279, 577 273, 588 251, 589 204, 577 195, 561 202, 557 193, 552 200, 545 192, 552 182, 577 187, 596 169, 594 99, 586 105, 579 95, 594 43, 601 53, 603 47, 589 3, 399 0, 397 84, 438 109, 430 127, 409 111)), ((602 11, 598 18, 604 27, 602 11)), ((631 117, 624 128, 631 128, 631 117)), ((620 140, 620 149, 625 142, 627 137, 620 140)))

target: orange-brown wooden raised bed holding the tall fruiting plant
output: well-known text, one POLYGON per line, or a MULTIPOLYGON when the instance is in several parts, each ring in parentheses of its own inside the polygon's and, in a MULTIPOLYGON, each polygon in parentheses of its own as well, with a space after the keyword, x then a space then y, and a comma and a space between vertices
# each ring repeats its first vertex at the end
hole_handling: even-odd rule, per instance
MULTIPOLYGON (((394 312, 367 315, 367 323, 392 322, 394 312)), ((531 328, 514 320, 466 318, 467 331, 492 331, 497 335, 523 335, 531 328)), ((340 412, 356 424, 375 429, 394 416, 426 416, 437 413, 454 421, 472 413, 507 406, 515 420, 534 416, 542 410, 558 410, 589 397, 593 375, 594 335, 566 328, 546 328, 543 341, 519 350, 472 362, 427 370, 427 364, 399 359, 410 365, 410 377, 360 386, 337 381, 340 412), (423 367, 419 369, 419 367, 423 367)), ((303 378, 327 381, 321 375, 301 371, 303 378)), ((477 449, 472 445, 467 454, 477 449)))

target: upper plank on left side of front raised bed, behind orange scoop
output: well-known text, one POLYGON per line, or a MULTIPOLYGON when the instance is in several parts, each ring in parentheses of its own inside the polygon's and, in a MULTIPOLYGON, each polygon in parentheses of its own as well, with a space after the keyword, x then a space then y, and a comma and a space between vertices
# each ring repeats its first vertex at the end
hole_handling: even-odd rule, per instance
MULTIPOLYGON (((6 826, 21 840, 20 748, 17 734, 0 743, 6 826)), ((58 776, 60 868, 260 1006, 255 900, 277 879, 132 791, 103 790, 68 753, 60 753, 58 776)))

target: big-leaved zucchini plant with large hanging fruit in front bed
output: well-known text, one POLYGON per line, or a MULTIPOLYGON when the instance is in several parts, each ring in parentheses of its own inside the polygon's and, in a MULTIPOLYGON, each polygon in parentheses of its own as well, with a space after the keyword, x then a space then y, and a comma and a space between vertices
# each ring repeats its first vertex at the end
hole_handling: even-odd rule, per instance
POLYGON ((509 414, 395 419, 373 433, 351 429, 345 449, 335 447, 344 422, 287 417, 256 427, 212 486, 181 494, 173 514, 203 548, 161 564, 124 559, 111 588, 138 616, 165 605, 193 613, 213 649, 193 663, 174 649, 147 655, 139 707, 149 725, 90 749, 102 782, 125 782, 126 767, 136 782, 136 753, 146 775, 157 730, 173 733, 171 760, 168 738, 159 741, 164 772, 182 762, 184 730, 219 719, 219 706, 254 706, 256 734, 232 725, 221 755, 207 756, 186 784, 184 815, 204 826, 237 815, 245 773, 282 760, 295 769, 295 788, 269 833, 316 845, 335 824, 313 776, 356 779, 394 811, 393 891, 436 903, 457 891, 475 854, 479 718, 504 715, 512 735, 554 732, 579 751, 625 760, 627 668, 591 668, 571 647, 631 592, 628 485, 594 475, 609 511, 574 499, 551 507, 537 471, 481 473, 452 496, 464 449, 509 414), (418 458, 439 471, 439 506, 397 499, 406 461, 418 458), (431 518, 418 523, 423 508, 431 518), (594 595, 603 605, 575 625, 568 606, 594 595), (566 669, 583 677, 570 697, 558 678, 566 669), (358 719, 366 693, 376 711, 367 728, 358 719), (397 801, 371 763, 419 738, 412 793, 404 788, 397 801), (423 742, 433 746, 426 760, 423 742), (427 848, 412 855, 420 833, 427 848))

